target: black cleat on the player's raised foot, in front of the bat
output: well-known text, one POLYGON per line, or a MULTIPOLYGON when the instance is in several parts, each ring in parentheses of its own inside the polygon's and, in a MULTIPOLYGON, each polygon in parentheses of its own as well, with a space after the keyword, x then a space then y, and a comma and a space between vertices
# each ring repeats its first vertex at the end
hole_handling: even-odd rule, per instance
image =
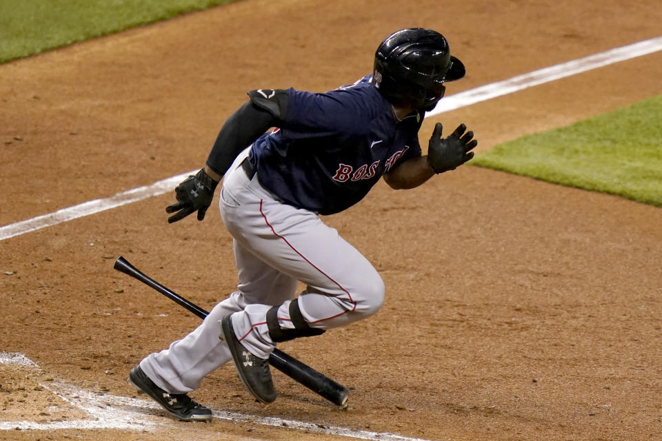
POLYGON ((237 339, 232 327, 230 316, 221 320, 223 338, 230 347, 234 366, 237 367, 239 378, 248 388, 248 391, 261 402, 270 403, 278 397, 278 391, 274 388, 274 382, 269 370, 269 360, 254 356, 237 339))

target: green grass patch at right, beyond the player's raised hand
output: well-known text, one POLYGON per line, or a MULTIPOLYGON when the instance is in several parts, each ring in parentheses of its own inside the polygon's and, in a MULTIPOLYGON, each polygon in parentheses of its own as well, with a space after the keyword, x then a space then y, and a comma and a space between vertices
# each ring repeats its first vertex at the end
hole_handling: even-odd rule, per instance
POLYGON ((662 95, 497 145, 471 163, 662 207, 662 95))

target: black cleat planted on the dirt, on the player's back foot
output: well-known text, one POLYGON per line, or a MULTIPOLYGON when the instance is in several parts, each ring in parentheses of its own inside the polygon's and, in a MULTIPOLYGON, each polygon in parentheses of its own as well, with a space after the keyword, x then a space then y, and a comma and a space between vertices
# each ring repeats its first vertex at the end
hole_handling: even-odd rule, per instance
POLYGON ((143 391, 154 401, 161 404, 170 415, 180 421, 204 421, 212 420, 212 411, 202 404, 198 404, 185 393, 168 393, 158 387, 148 376, 145 375, 140 366, 134 367, 129 373, 129 381, 138 389, 143 391))

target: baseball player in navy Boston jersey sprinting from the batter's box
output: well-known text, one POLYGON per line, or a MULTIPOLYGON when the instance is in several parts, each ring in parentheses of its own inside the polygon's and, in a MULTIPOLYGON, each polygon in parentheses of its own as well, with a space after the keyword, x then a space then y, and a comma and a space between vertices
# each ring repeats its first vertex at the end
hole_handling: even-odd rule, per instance
POLYGON ((413 188, 470 160, 477 141, 465 125, 442 138, 437 123, 427 156, 418 140, 445 83, 464 74, 443 35, 412 28, 386 37, 372 74, 351 85, 248 92, 205 167, 179 184, 177 203, 166 209, 170 223, 193 212, 203 220, 222 178, 219 207, 233 237, 237 291, 191 334, 141 360, 130 372, 135 387, 179 420, 209 421, 210 409, 187 393, 234 360, 245 387, 269 403, 278 396, 268 364, 277 343, 377 312, 379 273, 319 215, 361 201, 379 178, 413 188), (306 288, 296 296, 299 281, 306 288))

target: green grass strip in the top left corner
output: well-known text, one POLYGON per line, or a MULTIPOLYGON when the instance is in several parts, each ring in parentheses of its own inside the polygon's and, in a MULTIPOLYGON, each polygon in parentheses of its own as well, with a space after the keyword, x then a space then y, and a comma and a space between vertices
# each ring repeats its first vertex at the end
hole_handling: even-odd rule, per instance
POLYGON ((0 0, 0 63, 232 0, 0 0))

